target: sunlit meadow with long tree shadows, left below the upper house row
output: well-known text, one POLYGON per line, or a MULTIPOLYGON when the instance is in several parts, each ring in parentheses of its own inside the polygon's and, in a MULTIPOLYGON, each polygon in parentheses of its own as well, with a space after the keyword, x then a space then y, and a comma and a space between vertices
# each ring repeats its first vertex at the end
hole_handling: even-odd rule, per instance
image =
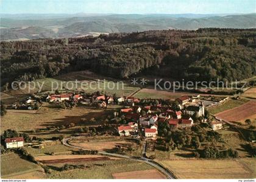
MULTIPOLYGON (((11 128, 16 131, 31 131, 39 128, 56 127, 61 125, 69 125, 73 122, 76 125, 94 125, 99 124, 98 121, 82 122, 81 118, 85 117, 90 120, 91 117, 104 117, 110 110, 76 107, 71 109, 51 108, 51 104, 44 104, 38 111, 29 110, 7 110, 7 114, 1 118, 1 132, 11 128)), ((46 138, 49 134, 70 135, 74 133, 71 129, 60 133, 36 132, 38 137, 46 138)))

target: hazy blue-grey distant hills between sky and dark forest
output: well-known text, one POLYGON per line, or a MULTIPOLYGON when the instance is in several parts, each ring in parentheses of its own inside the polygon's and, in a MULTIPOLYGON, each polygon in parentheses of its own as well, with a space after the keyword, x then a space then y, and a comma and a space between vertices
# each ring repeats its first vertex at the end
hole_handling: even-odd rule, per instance
POLYGON ((89 32, 141 32, 145 30, 196 30, 206 27, 248 29, 256 27, 256 13, 245 15, 32 15, 1 16, 1 40, 17 38, 77 37, 89 32), (24 19, 21 19, 24 17, 24 19), (52 18, 53 17, 53 18, 52 18), (16 19, 15 19, 16 18, 16 19), (18 30, 17 28, 30 27, 18 30), (35 27, 35 31, 32 31, 35 27), (15 29, 13 29, 15 28, 15 29), (40 30, 39 30, 40 29, 40 30), (33 34, 33 35, 32 35, 33 34), (38 34, 38 36, 34 36, 38 34))

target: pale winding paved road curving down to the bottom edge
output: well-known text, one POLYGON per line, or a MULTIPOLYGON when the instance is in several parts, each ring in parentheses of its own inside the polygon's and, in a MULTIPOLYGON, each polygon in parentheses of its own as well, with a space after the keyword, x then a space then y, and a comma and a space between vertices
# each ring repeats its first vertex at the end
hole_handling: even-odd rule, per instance
MULTIPOLYGON (((69 139, 74 139, 74 138, 79 138, 79 136, 77 137, 71 137, 71 138, 64 138, 62 140, 63 145, 66 145, 68 147, 73 147, 76 149, 82 149, 82 150, 88 150, 88 149, 84 149, 82 147, 76 147, 74 145, 71 145, 68 143, 69 139)), ((144 157, 136 157, 136 156, 128 156, 128 155, 121 155, 118 153, 108 153, 108 152, 103 152, 103 151, 99 151, 98 154, 100 155, 108 155, 108 156, 114 156, 114 157, 119 157, 119 158, 126 158, 126 159, 132 159, 134 161, 139 161, 139 162, 143 162, 146 164, 149 164, 152 167, 155 167, 155 169, 159 170, 160 172, 162 172, 164 175, 166 175, 166 177, 168 179, 177 179, 176 175, 174 174, 174 172, 172 172, 171 170, 167 169, 166 167, 162 166, 161 164, 148 159, 148 158, 144 158, 144 157)))

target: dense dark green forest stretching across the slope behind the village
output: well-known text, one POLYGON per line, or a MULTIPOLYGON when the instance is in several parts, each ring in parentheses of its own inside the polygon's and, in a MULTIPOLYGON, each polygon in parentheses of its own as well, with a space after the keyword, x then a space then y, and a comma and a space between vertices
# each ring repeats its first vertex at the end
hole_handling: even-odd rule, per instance
POLYGON ((152 30, 0 44, 1 86, 85 69, 119 79, 151 74, 211 81, 256 75, 256 29, 152 30))

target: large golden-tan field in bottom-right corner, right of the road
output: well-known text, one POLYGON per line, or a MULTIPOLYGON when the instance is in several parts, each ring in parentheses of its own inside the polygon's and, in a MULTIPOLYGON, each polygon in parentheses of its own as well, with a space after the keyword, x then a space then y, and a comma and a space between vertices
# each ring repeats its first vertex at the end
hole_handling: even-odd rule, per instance
MULTIPOLYGON (((254 164, 256 159, 253 160, 254 164)), ((255 165, 242 159, 160 161, 182 179, 255 178, 255 165)))

